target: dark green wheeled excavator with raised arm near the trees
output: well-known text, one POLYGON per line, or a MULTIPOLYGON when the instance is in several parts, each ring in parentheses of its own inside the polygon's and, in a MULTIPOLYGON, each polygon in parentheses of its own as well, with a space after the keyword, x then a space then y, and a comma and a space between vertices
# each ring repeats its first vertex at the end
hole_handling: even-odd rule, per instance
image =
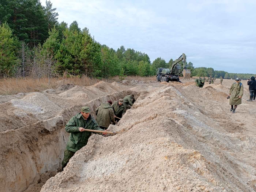
POLYGON ((157 71, 159 71, 161 73, 161 75, 157 74, 157 81, 180 82, 179 74, 181 72, 181 64, 179 64, 179 62, 182 60, 183 60, 182 74, 184 76, 184 79, 186 79, 186 78, 190 79, 191 72, 189 69, 186 69, 186 59, 187 59, 187 56, 184 53, 182 53, 182 55, 180 55, 180 57, 178 59, 173 61, 171 69, 161 68, 161 72, 160 72, 160 70, 159 70, 160 68, 159 68, 157 71))

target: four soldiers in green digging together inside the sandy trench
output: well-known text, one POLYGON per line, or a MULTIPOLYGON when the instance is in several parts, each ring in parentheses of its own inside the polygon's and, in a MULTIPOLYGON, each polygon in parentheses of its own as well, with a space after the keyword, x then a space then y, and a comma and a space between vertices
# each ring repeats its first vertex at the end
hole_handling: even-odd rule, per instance
MULTIPOLYGON (((123 117, 126 110, 130 109, 135 101, 134 94, 115 101, 113 105, 112 101, 108 100, 96 109, 96 119, 91 115, 91 110, 88 106, 82 107, 81 112, 73 116, 65 126, 65 131, 69 133, 69 138, 61 163, 62 170, 76 151, 87 144, 92 132, 87 132, 86 129, 107 130, 110 124, 116 124, 123 117)), ((105 133, 99 134, 105 135, 105 133)))

